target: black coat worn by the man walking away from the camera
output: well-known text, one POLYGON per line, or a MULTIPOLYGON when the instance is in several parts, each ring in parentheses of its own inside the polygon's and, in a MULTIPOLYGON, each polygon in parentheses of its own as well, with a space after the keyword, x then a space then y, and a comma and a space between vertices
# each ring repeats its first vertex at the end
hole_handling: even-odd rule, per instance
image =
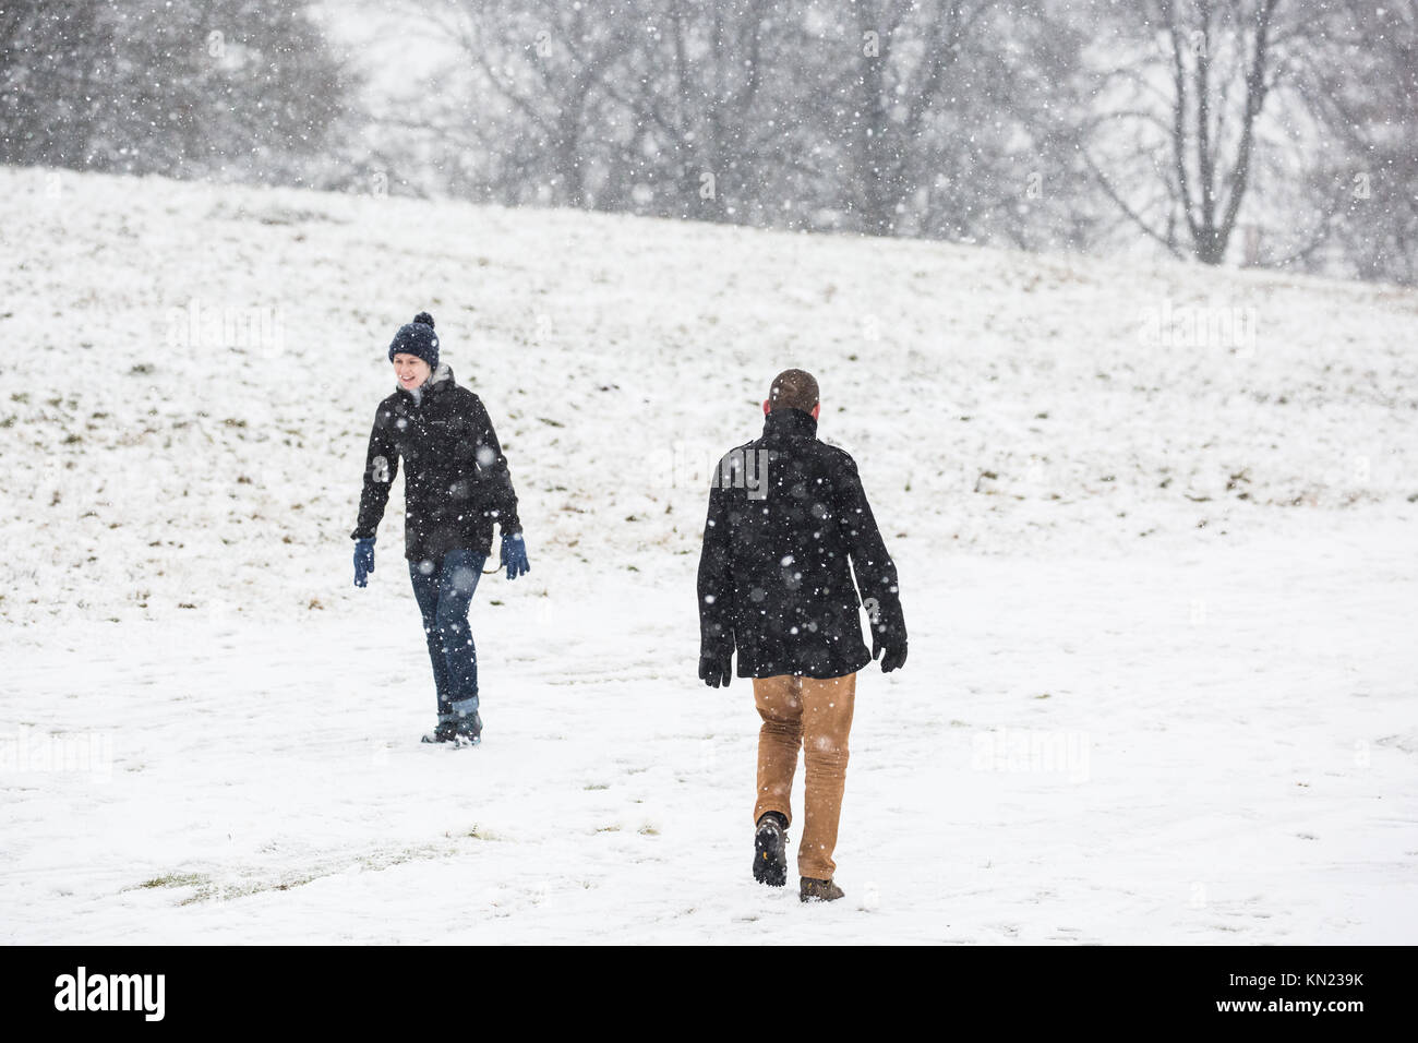
POLYGON ((700 653, 737 649, 739 677, 842 677, 872 658, 859 605, 883 646, 905 644, 896 566, 856 464, 818 441, 810 414, 777 409, 710 481, 700 653))

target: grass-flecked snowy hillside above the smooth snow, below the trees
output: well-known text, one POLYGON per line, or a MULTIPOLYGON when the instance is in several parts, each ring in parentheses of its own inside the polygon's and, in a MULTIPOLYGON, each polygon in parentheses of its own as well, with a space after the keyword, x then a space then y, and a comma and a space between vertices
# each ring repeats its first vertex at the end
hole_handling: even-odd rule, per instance
POLYGON ((330 570, 421 308, 569 565, 695 552, 706 461, 787 365, 923 549, 1146 552, 1418 497, 1415 292, 41 170, 0 200, 13 622, 354 605, 330 570))

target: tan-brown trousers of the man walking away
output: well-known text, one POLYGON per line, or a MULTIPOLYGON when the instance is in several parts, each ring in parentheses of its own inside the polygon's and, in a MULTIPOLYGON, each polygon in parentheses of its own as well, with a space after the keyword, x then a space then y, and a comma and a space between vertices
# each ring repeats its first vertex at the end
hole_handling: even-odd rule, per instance
POLYGON ((807 763, 803 843, 798 874, 831 880, 837 871, 837 820, 842 813, 847 782, 847 734, 852 728, 856 674, 815 680, 811 677, 761 677, 753 680, 753 701, 763 718, 759 731, 759 800, 753 820, 780 812, 793 822, 788 799, 798 749, 807 763))

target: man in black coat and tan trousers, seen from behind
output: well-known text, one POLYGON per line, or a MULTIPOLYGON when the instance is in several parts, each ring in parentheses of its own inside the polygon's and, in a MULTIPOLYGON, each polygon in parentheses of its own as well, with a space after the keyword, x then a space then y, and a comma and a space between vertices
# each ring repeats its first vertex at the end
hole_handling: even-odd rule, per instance
POLYGON ((788 798, 804 752, 803 901, 842 897, 832 850, 856 671, 882 651, 882 673, 906 661, 896 566, 856 464, 817 438, 820 410, 810 373, 774 377, 763 437, 730 450, 713 475, 699 558, 699 677, 710 688, 729 684, 737 649, 739 677, 753 678, 763 718, 753 809, 753 876, 763 884, 787 883, 788 798))

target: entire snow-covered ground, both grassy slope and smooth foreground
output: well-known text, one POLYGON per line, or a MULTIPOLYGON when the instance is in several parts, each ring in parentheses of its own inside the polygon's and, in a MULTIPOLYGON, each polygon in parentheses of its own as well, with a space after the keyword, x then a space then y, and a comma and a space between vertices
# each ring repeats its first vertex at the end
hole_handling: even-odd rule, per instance
POLYGON ((11 169, 0 250, 6 941, 1418 941, 1418 294, 11 169), (471 751, 400 509, 350 585, 421 308, 532 556, 471 751), (828 907, 753 884, 749 685, 695 678, 788 365, 912 636, 828 907))

